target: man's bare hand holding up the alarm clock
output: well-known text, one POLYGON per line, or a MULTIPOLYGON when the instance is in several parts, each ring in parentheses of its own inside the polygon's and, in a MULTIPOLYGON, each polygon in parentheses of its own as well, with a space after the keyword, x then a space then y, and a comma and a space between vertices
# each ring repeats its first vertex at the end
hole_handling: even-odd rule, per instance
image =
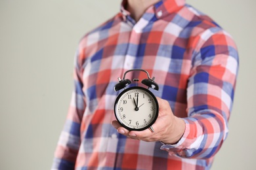
POLYGON ((112 121, 118 133, 121 133, 129 138, 138 139, 147 142, 162 141, 166 144, 175 144, 181 139, 184 130, 184 120, 173 115, 169 103, 159 97, 159 114, 156 122, 152 125, 154 133, 150 129, 143 131, 129 131, 122 127, 116 120, 112 121))

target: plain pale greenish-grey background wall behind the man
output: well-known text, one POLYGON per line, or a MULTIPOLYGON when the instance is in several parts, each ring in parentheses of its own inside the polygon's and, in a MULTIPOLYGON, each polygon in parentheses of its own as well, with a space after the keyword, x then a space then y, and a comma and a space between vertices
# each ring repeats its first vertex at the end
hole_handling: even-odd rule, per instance
MULTIPOLYGON (((79 39, 121 0, 0 0, 0 169, 50 169, 79 39)), ((230 133, 212 169, 255 169, 255 0, 189 0, 234 37, 240 72, 230 133)))

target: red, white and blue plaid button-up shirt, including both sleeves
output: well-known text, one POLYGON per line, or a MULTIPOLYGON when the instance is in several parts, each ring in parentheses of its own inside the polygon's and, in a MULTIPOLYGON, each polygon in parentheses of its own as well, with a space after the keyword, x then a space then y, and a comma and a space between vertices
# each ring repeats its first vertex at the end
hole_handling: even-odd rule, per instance
POLYGON ((209 169, 228 133, 238 72, 234 41, 184 0, 160 1, 137 23, 125 3, 79 43, 75 90, 52 168, 209 169), (110 124, 114 86, 129 69, 155 76, 160 90, 152 92, 184 119, 177 144, 128 139, 110 124))

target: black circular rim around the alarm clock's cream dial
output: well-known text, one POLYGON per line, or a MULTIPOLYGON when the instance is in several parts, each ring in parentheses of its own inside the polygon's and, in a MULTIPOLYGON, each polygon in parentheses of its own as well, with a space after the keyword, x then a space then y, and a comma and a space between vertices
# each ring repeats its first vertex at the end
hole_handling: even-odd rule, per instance
POLYGON ((116 116, 117 122, 119 122, 119 124, 121 124, 121 126, 125 127, 125 129, 128 129, 129 131, 142 131, 144 129, 148 129, 150 126, 152 126, 156 122, 156 119, 158 118, 158 113, 159 113, 159 105, 158 105, 158 100, 156 99, 156 96, 150 90, 148 90, 146 88, 142 88, 140 86, 134 86, 134 87, 127 88, 127 89, 123 90, 123 92, 121 92, 121 93, 119 93, 119 95, 117 95, 117 98, 116 98, 116 101, 114 104, 114 114, 116 116), (144 90, 145 92, 149 93, 156 103, 156 116, 155 116, 154 120, 152 120, 152 122, 150 124, 148 124, 148 126, 145 126, 145 127, 139 128, 139 129, 131 128, 129 126, 126 126, 122 122, 120 122, 119 119, 117 118, 117 111, 116 111, 117 103, 118 103, 121 95, 123 95, 123 93, 128 92, 129 90, 135 90, 135 89, 144 90))

